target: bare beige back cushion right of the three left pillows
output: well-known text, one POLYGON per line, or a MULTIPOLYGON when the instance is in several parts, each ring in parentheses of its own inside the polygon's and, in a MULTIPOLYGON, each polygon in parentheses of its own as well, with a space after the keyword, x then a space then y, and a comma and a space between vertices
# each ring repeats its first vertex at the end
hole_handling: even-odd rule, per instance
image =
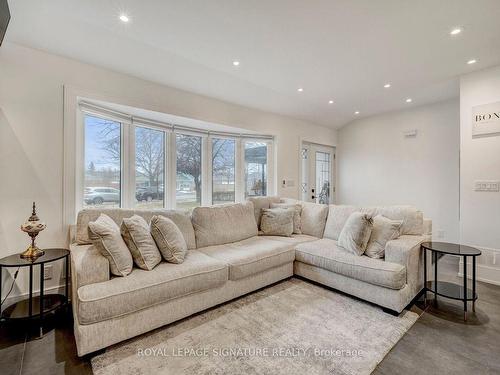
POLYGON ((252 202, 196 207, 192 222, 198 248, 241 241, 258 234, 252 202))

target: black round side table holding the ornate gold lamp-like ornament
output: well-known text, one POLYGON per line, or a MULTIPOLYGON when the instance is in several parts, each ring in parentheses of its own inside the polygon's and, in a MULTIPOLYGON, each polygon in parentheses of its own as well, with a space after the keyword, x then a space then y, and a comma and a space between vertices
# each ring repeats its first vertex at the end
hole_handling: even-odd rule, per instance
POLYGON ((43 334, 43 318, 45 314, 56 311, 68 305, 69 285, 69 250, 67 249, 44 249, 45 253, 35 260, 23 259, 19 254, 14 254, 0 259, 0 301, 2 300, 2 269, 10 267, 29 267, 29 295, 28 298, 13 303, 2 309, 0 307, 0 320, 23 320, 39 319, 40 336, 43 334), (44 281, 46 263, 63 259, 65 262, 66 283, 64 295, 58 293, 45 294, 44 281), (40 266, 40 293, 33 296, 33 268, 40 266))

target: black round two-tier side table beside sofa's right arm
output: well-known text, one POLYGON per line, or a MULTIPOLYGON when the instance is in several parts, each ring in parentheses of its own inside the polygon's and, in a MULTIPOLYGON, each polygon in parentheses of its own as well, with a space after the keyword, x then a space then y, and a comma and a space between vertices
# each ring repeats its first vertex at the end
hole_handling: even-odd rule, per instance
POLYGON ((472 301, 472 311, 475 311, 475 302, 477 300, 476 293, 476 257, 481 255, 481 250, 475 247, 459 245, 448 242, 424 242, 422 243, 424 250, 424 301, 427 304, 427 291, 434 293, 434 298, 437 296, 451 298, 463 301, 464 303, 464 321, 467 320, 467 302, 472 301), (434 280, 427 281, 427 250, 432 252, 434 261, 434 280), (437 254, 449 254, 463 257, 463 285, 438 281, 437 278, 437 254), (467 288, 467 257, 472 257, 472 290, 467 288))

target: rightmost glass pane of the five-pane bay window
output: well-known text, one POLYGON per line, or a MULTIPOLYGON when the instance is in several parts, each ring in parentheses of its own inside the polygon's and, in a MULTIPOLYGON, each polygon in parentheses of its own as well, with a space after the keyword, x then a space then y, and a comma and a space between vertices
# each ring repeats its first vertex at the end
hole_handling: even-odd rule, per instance
POLYGON ((267 143, 245 142, 245 198, 267 195, 267 143))

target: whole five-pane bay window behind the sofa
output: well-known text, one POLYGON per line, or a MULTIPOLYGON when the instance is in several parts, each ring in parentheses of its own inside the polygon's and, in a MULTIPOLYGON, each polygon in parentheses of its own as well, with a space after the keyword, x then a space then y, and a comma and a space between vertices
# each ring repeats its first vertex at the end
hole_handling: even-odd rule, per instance
POLYGON ((75 148, 76 212, 189 210, 275 193, 270 136, 210 132, 86 102, 79 108, 76 134, 83 136, 77 136, 75 148))

